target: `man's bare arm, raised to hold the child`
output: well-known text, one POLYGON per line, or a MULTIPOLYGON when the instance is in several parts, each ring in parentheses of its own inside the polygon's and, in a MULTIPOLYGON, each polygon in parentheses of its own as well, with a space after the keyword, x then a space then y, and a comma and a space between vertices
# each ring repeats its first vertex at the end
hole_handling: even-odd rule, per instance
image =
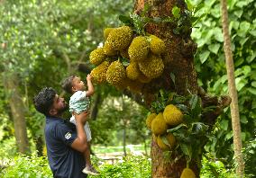
POLYGON ((87 135, 84 129, 84 125, 87 122, 87 115, 88 112, 83 111, 80 114, 77 114, 76 112, 73 113, 76 120, 77 120, 77 132, 78 132, 78 138, 76 138, 73 143, 71 144, 71 147, 73 149, 78 150, 81 153, 84 153, 85 150, 88 148, 87 144, 87 135))

